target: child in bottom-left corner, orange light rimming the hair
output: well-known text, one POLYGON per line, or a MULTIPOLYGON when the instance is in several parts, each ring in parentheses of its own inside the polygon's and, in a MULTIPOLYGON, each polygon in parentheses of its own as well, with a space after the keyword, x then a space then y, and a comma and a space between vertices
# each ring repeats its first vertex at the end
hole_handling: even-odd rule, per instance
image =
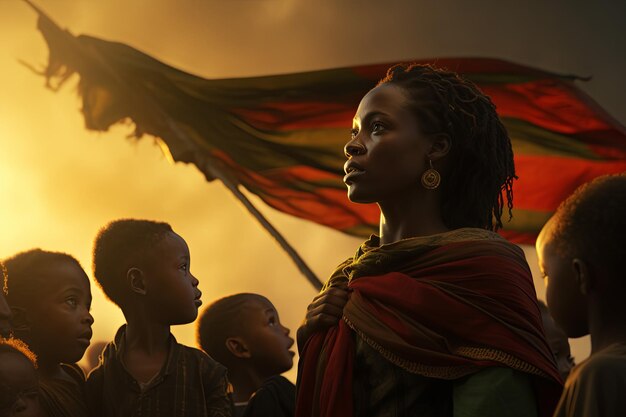
POLYGON ((36 367, 24 342, 0 338, 0 417, 43 416, 36 367))

